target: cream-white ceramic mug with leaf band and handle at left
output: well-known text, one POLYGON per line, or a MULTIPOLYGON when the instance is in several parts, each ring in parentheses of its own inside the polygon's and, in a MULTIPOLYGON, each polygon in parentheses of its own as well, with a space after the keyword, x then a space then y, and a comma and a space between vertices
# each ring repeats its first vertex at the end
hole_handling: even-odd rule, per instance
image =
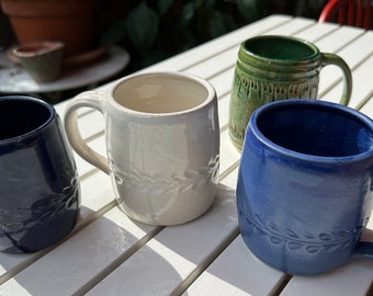
POLYGON ((106 92, 84 92, 68 105, 71 146, 111 175, 121 209, 150 225, 177 225, 212 205, 219 167, 219 126, 214 88, 177 72, 129 76, 106 92), (104 115, 108 159, 79 134, 77 111, 104 115))

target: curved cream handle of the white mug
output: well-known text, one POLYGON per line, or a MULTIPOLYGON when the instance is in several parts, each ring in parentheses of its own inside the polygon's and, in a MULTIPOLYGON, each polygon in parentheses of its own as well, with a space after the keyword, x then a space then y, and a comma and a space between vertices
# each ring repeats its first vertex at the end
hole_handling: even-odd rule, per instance
POLYGON ((90 148, 81 137, 78 126, 78 110, 91 107, 103 114, 104 92, 86 91, 74 98, 65 113, 65 129, 70 145, 79 156, 109 174, 108 159, 90 148))

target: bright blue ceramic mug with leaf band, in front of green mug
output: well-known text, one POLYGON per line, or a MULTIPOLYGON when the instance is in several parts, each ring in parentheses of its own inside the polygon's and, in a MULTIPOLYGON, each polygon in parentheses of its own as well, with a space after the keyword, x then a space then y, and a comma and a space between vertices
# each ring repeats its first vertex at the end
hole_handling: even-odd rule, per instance
POLYGON ((373 205, 373 122, 350 107, 292 99, 253 112, 237 182, 251 252, 285 273, 315 275, 352 258, 373 205))

